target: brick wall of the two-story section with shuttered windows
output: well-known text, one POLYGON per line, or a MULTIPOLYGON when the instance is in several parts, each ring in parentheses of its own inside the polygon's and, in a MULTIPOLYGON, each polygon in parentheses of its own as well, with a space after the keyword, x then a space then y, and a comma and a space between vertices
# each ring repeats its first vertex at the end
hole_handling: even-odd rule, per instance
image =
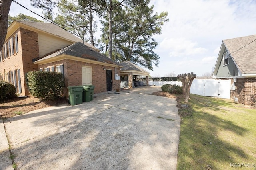
MULTIPOLYGON (((0 63, 0 73, 4 74, 4 70, 9 72, 20 69, 22 88, 21 95, 28 95, 28 87, 26 86, 24 77, 26 72, 38 70, 38 66, 32 62, 32 59, 38 57, 39 55, 38 34, 36 32, 20 28, 11 37, 9 37, 6 42, 14 37, 16 33, 18 35, 18 52, 14 53, 14 55, 6 58, 0 63)), ((18 83, 16 84, 18 87, 18 83)))

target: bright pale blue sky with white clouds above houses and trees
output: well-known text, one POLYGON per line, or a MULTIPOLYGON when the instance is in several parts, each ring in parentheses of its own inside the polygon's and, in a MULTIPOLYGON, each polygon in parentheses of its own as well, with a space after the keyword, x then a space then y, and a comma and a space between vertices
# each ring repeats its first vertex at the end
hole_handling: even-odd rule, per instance
MULTIPOLYGON (((30 6, 29 0, 16 1, 42 14, 30 6)), ((153 77, 173 72, 194 72, 198 76, 211 72, 223 39, 256 34, 255 0, 151 0, 150 4, 158 14, 167 11, 170 20, 162 27, 161 35, 154 35, 159 43, 154 51, 160 64, 154 71, 148 70, 153 77)), ((9 14, 19 13, 42 20, 12 2, 9 14)))

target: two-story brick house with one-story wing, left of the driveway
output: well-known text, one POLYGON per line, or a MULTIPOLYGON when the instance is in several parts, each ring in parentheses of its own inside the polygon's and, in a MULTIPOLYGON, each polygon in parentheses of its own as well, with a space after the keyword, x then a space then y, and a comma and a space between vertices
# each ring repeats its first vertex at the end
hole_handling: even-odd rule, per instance
POLYGON ((94 85, 94 93, 120 89, 115 74, 120 76, 122 66, 99 51, 52 23, 14 21, 0 53, 0 78, 21 95, 29 94, 24 77, 33 70, 62 72, 66 87, 94 85))

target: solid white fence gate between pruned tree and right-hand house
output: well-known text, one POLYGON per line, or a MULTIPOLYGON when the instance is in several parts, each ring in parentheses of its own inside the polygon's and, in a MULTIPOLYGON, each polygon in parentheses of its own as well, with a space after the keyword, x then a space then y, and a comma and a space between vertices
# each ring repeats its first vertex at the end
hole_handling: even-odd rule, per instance
POLYGON ((194 79, 191 94, 230 99, 231 80, 194 79))

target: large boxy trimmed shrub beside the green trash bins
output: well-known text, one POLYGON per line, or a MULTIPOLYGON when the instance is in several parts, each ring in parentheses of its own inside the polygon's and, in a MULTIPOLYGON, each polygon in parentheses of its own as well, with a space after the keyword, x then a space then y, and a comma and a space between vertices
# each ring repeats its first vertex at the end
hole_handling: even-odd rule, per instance
POLYGON ((30 71, 25 75, 28 90, 40 100, 54 100, 62 97, 64 78, 60 72, 30 71))

